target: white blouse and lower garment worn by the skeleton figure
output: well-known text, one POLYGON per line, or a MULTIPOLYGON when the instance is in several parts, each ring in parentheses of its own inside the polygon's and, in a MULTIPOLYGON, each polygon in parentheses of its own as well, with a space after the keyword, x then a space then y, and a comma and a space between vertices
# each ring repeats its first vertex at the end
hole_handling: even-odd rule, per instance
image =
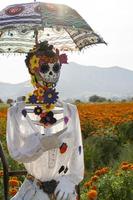
MULTIPOLYGON (((63 103, 63 113, 56 114, 56 119, 67 117, 68 123, 62 121, 52 129, 45 128, 45 130, 44 127, 33 123, 33 120, 37 120, 35 114, 28 114, 29 120, 22 115, 24 108, 24 103, 16 103, 8 110, 7 145, 11 157, 23 163, 27 172, 42 182, 52 179, 60 179, 61 182, 65 179, 68 187, 71 183, 78 185, 84 175, 84 159, 76 106, 63 103), (44 131, 54 134, 65 126, 68 128, 63 133, 62 143, 67 144, 67 150, 61 153, 60 149, 56 148, 44 152, 39 134, 44 134, 44 131)), ((65 189, 67 190, 67 186, 65 189)), ((12 198, 12 200, 44 199, 48 199, 48 195, 36 185, 35 181, 31 182, 27 179, 12 198)))

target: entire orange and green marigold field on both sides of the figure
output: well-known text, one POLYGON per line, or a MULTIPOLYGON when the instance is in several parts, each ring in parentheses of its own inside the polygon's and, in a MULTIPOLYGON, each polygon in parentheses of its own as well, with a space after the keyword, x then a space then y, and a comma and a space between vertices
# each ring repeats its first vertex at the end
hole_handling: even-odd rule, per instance
MULTIPOLYGON (((85 178, 81 200, 133 199, 133 102, 77 103, 83 136, 85 178)), ((10 169, 23 165, 10 158, 6 146, 7 105, 0 106, 0 140, 10 169)), ((0 200, 3 200, 0 162, 0 200)), ((10 198, 25 177, 9 180, 10 198)))

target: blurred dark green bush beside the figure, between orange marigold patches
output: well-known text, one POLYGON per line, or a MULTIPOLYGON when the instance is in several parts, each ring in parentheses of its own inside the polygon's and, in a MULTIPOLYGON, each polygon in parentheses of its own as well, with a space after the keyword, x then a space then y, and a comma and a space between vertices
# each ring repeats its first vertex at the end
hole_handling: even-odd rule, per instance
POLYGON ((89 137, 84 141, 85 166, 95 170, 103 166, 114 165, 119 158, 122 145, 116 135, 89 137))

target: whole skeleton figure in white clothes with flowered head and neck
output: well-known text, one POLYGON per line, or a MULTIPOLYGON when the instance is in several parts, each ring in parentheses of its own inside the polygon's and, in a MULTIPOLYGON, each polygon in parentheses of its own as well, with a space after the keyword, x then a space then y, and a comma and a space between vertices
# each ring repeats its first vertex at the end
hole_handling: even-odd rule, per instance
POLYGON ((35 90, 8 110, 7 145, 28 175, 12 200, 75 200, 84 174, 80 122, 55 91, 65 55, 47 42, 26 58, 35 90))

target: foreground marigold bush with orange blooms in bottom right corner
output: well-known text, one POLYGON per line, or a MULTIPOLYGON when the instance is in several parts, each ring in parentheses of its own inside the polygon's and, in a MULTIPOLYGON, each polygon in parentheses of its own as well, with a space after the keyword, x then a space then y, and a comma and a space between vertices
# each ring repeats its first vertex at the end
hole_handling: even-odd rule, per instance
POLYGON ((133 164, 123 163, 116 170, 99 169, 85 186, 81 191, 82 200, 87 200, 87 193, 94 187, 97 200, 133 200, 133 164))

